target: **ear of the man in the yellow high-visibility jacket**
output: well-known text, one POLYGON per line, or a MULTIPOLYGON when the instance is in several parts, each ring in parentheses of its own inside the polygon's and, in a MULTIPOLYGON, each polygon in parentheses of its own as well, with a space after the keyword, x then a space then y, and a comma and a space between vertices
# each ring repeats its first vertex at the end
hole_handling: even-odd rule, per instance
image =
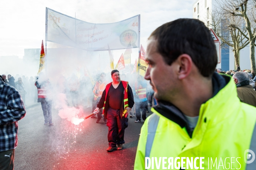
POLYGON ((179 64, 178 78, 186 78, 190 74, 193 65, 191 57, 188 54, 181 54, 176 61, 179 64))

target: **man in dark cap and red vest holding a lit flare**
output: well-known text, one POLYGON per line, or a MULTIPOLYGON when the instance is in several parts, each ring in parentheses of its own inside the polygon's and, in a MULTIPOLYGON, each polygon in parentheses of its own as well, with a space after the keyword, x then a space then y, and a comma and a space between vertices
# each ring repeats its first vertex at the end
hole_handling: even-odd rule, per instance
POLYGON ((108 152, 116 149, 122 150, 122 144, 125 143, 125 128, 128 126, 127 115, 134 105, 131 87, 128 82, 120 80, 119 71, 111 71, 111 78, 113 82, 106 86, 97 108, 94 110, 99 111, 100 108, 103 108, 104 117, 108 121, 108 152), (124 110, 127 111, 123 116, 124 110))

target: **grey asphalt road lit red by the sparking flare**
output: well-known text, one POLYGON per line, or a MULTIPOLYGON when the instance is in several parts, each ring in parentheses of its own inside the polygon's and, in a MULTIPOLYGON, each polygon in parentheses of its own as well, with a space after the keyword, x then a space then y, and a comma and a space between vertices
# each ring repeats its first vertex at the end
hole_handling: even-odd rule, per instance
MULTIPOLYGON (((26 108, 18 122, 15 170, 132 170, 143 121, 129 118, 123 150, 108 153, 108 127, 103 119, 86 119, 73 125, 52 108, 51 125, 44 125, 40 103, 26 108)), ((91 108, 84 108, 88 115, 91 108)), ((147 113, 149 116, 151 113, 147 113)))

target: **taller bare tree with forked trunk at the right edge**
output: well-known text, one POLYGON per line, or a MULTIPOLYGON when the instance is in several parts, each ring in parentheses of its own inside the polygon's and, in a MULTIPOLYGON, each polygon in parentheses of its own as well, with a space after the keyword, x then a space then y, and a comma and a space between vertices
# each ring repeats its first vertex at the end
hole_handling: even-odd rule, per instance
POLYGON ((234 17, 241 17, 245 22, 245 29, 247 34, 236 26, 232 26, 236 28, 240 34, 244 37, 247 37, 250 45, 250 65, 251 70, 256 71, 255 65, 255 40, 256 40, 256 24, 254 16, 255 16, 255 0, 221 0, 217 1, 219 7, 224 12, 224 14, 230 14, 234 17))

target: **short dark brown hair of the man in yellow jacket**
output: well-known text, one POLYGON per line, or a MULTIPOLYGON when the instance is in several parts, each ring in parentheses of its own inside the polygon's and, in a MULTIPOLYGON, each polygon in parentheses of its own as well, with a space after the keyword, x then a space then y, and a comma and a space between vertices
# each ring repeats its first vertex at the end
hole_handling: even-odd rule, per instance
POLYGON ((212 76, 217 51, 209 29, 200 20, 182 18, 165 23, 148 39, 157 40, 157 52, 171 65, 181 54, 188 54, 204 77, 212 76))

